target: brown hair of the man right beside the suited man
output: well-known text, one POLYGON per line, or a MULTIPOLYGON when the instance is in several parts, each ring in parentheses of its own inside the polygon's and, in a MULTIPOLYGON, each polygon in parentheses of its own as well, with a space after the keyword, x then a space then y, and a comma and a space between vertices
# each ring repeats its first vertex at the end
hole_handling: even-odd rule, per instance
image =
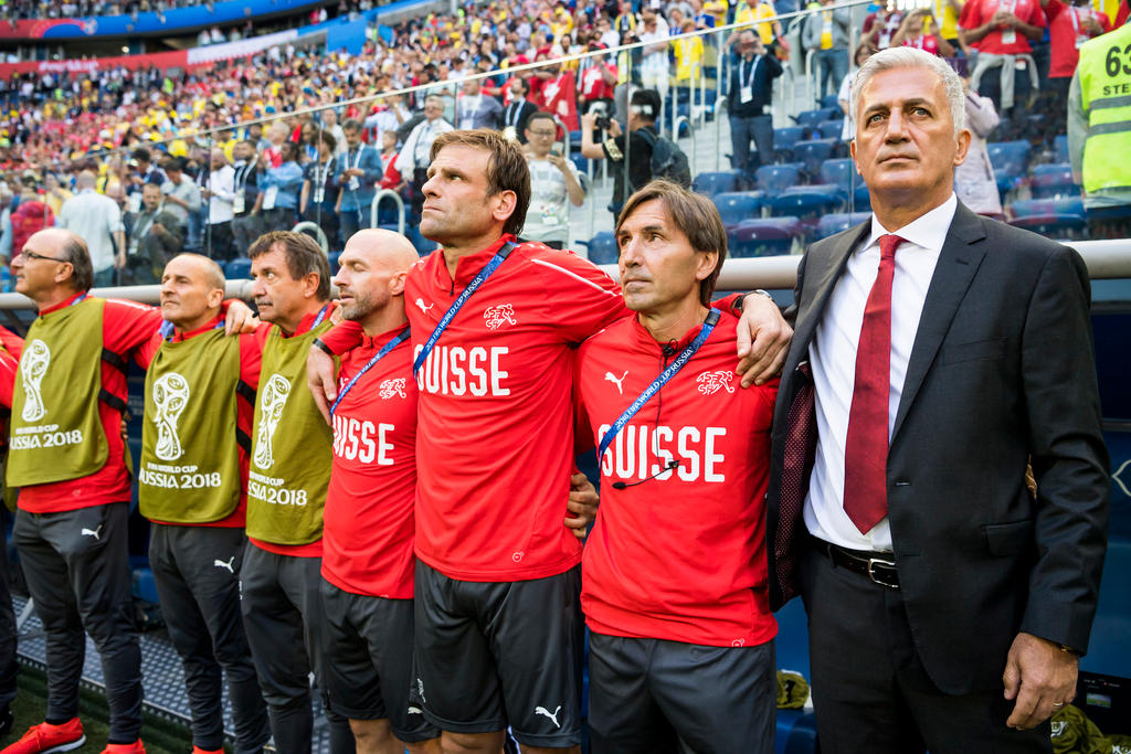
POLYGON ((657 179, 645 184, 624 202, 624 209, 616 218, 614 233, 621 232, 621 226, 640 205, 654 199, 664 206, 672 224, 688 237, 692 249, 701 252, 718 252, 715 269, 699 281, 699 303, 709 306, 710 297, 715 294, 718 274, 723 269, 723 261, 726 260, 726 226, 723 225, 718 209, 707 197, 688 191, 672 181, 657 179))

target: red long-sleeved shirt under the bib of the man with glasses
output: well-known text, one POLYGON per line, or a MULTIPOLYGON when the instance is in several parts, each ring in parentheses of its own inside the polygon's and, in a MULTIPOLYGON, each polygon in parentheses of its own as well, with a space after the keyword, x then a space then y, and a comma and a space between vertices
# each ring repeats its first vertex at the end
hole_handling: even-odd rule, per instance
MULTIPOLYGON (((58 311, 78 298, 75 294, 67 301, 44 309, 41 314, 58 311)), ((128 358, 132 352, 148 341, 161 327, 161 310, 130 301, 107 298, 102 318, 102 345, 104 348, 128 358)), ((115 366, 102 362, 102 387, 113 396, 126 400, 126 374, 115 366)), ((84 400, 94 396, 83 396, 84 400)), ((122 414, 98 400, 98 417, 110 445, 106 465, 78 479, 51 482, 21 487, 19 506, 28 513, 59 513, 80 508, 92 508, 106 503, 119 503, 130 499, 130 475, 126 470, 124 443, 122 442, 122 414)))

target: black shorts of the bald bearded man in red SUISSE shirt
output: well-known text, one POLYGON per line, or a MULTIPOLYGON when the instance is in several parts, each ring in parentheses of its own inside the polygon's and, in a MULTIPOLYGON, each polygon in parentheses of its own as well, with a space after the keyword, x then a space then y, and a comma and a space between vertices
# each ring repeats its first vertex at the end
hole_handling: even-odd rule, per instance
POLYGON ((354 720, 389 719, 412 744, 440 735, 408 701, 413 674, 413 600, 368 597, 322 580, 326 685, 330 703, 354 720))

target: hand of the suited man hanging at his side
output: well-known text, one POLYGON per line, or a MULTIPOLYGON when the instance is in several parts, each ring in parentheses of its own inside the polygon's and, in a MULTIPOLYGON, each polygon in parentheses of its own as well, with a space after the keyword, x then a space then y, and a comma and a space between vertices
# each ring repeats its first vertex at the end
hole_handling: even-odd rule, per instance
POLYGON ((1080 658, 1059 644, 1019 633, 1009 648, 1002 683, 1005 699, 1016 701, 1005 725, 1034 728, 1076 697, 1080 658))

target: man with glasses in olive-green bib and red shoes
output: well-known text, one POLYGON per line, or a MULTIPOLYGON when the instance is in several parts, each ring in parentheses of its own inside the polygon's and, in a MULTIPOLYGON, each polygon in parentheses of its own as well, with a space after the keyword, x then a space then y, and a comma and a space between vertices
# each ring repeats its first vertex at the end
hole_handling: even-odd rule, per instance
MULTIPOLYGON (((162 324, 161 310, 88 295, 86 242, 33 235, 11 262, 16 292, 38 309, 12 388, 7 482, 19 487, 12 540, 46 634, 46 720, 5 752, 80 746, 78 687, 86 639, 102 656, 110 735, 104 754, 141 753, 141 652, 127 553, 130 473, 126 366, 162 324)), ((228 306, 227 331, 248 307, 228 306)))

